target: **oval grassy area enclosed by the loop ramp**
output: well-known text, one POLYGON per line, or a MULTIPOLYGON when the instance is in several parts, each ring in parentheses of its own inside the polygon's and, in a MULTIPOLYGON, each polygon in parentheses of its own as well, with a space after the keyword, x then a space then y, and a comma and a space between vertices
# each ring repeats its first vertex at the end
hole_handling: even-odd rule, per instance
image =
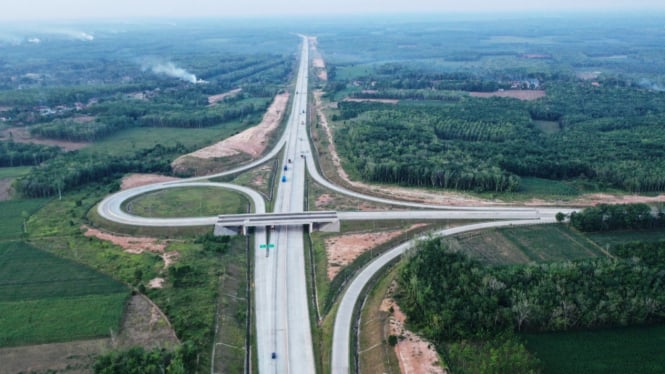
POLYGON ((208 217, 247 212, 247 198, 214 187, 183 187, 150 192, 127 203, 124 209, 142 217, 208 217))

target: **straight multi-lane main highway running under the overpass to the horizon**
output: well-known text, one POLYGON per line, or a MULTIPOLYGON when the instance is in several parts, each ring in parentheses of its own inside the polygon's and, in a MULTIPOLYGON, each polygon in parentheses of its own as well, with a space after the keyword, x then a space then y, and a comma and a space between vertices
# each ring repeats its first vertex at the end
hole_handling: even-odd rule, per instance
MULTIPOLYGON (((304 123, 308 62, 307 40, 303 38, 293 106, 285 131, 284 170, 275 198, 277 213, 302 212, 304 208, 305 163, 300 152, 307 142, 300 139, 307 136, 304 123)), ((271 253, 265 256, 257 252, 256 255, 256 271, 266 272, 265 277, 255 281, 255 305, 259 306, 257 327, 258 321, 266 318, 257 334, 259 372, 314 373, 302 225, 280 226, 271 233, 270 240, 275 244, 271 253), (262 290, 265 299, 259 296, 258 290, 262 290), (274 312, 262 315, 259 309, 274 312)))

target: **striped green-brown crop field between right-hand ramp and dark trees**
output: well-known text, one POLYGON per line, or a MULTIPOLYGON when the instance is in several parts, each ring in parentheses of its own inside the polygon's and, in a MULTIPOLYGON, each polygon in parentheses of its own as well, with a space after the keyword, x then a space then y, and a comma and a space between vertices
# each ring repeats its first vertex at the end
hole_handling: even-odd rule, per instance
POLYGON ((451 248, 496 265, 577 260, 602 255, 601 248, 584 235, 560 224, 470 232, 450 240, 451 248))

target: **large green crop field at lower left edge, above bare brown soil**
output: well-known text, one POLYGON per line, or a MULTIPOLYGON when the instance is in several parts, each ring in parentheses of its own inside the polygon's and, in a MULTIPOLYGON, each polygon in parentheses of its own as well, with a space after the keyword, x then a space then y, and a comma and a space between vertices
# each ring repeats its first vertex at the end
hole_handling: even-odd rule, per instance
POLYGON ((0 346, 107 336, 129 290, 23 242, 0 243, 0 346))

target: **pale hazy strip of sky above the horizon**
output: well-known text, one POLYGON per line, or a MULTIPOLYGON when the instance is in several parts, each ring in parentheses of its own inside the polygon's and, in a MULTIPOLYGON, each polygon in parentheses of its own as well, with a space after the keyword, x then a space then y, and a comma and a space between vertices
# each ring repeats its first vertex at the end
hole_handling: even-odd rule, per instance
POLYGON ((496 11, 665 12, 663 0, 3 0, 0 20, 496 11))

